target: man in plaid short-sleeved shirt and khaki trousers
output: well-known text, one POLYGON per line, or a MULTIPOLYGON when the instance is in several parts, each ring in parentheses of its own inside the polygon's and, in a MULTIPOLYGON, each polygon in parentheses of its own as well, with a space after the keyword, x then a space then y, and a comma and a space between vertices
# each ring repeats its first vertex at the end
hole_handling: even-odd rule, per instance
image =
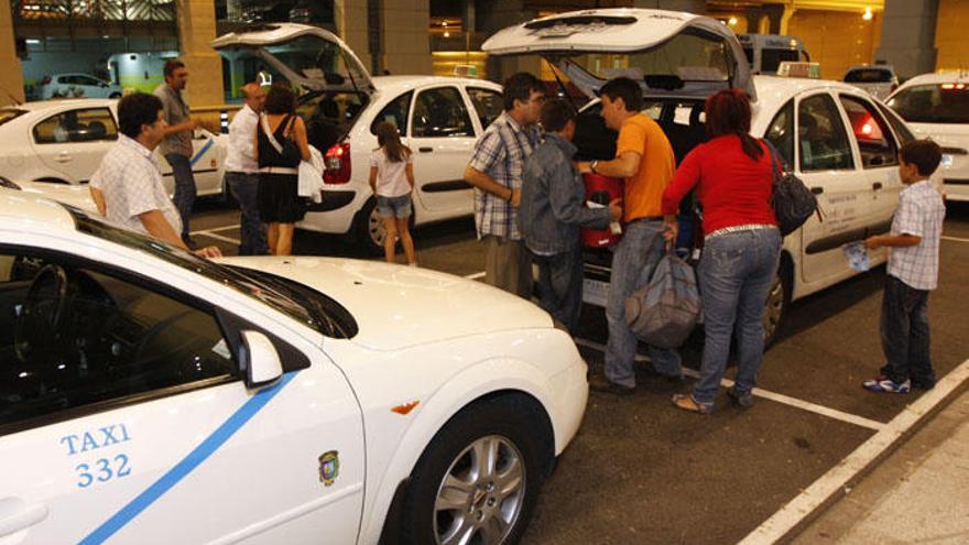
POLYGON ((522 241, 518 208, 522 172, 538 143, 538 112, 545 100, 542 83, 519 73, 504 83, 504 111, 475 144, 465 181, 475 186, 475 226, 484 244, 484 281, 529 298, 532 258, 522 241))

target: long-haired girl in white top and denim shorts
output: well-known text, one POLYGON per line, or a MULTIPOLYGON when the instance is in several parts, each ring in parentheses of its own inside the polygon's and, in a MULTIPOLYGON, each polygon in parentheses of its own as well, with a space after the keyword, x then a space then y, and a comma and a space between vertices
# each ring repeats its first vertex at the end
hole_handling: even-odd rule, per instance
POLYGON ((388 263, 394 262, 396 239, 407 257, 407 264, 417 266, 414 241, 407 229, 413 204, 414 163, 411 149, 401 143, 396 127, 391 123, 377 126, 377 143, 380 148, 370 154, 370 188, 377 197, 377 211, 383 218, 386 237, 383 239, 383 254, 388 263))

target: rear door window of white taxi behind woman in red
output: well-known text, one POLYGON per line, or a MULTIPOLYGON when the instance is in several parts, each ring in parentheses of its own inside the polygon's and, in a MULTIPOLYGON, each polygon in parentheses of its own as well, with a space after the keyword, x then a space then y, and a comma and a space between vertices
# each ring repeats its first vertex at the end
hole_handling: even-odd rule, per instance
POLYGON ((797 113, 802 172, 854 168, 841 112, 830 95, 805 98, 797 113))

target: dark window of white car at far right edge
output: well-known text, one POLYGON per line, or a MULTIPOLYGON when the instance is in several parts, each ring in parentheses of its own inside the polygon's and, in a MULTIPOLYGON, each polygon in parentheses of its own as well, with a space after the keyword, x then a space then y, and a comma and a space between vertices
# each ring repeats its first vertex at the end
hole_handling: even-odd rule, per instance
POLYGON ((911 123, 969 123, 969 84, 916 85, 889 106, 911 123))

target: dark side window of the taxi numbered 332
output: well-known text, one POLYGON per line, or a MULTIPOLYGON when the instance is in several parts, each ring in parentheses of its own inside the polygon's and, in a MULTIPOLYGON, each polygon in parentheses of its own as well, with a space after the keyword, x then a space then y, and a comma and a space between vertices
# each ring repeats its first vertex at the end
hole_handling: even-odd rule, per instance
POLYGON ((0 251, 0 434, 237 374, 210 312, 73 258, 18 250, 0 251))

